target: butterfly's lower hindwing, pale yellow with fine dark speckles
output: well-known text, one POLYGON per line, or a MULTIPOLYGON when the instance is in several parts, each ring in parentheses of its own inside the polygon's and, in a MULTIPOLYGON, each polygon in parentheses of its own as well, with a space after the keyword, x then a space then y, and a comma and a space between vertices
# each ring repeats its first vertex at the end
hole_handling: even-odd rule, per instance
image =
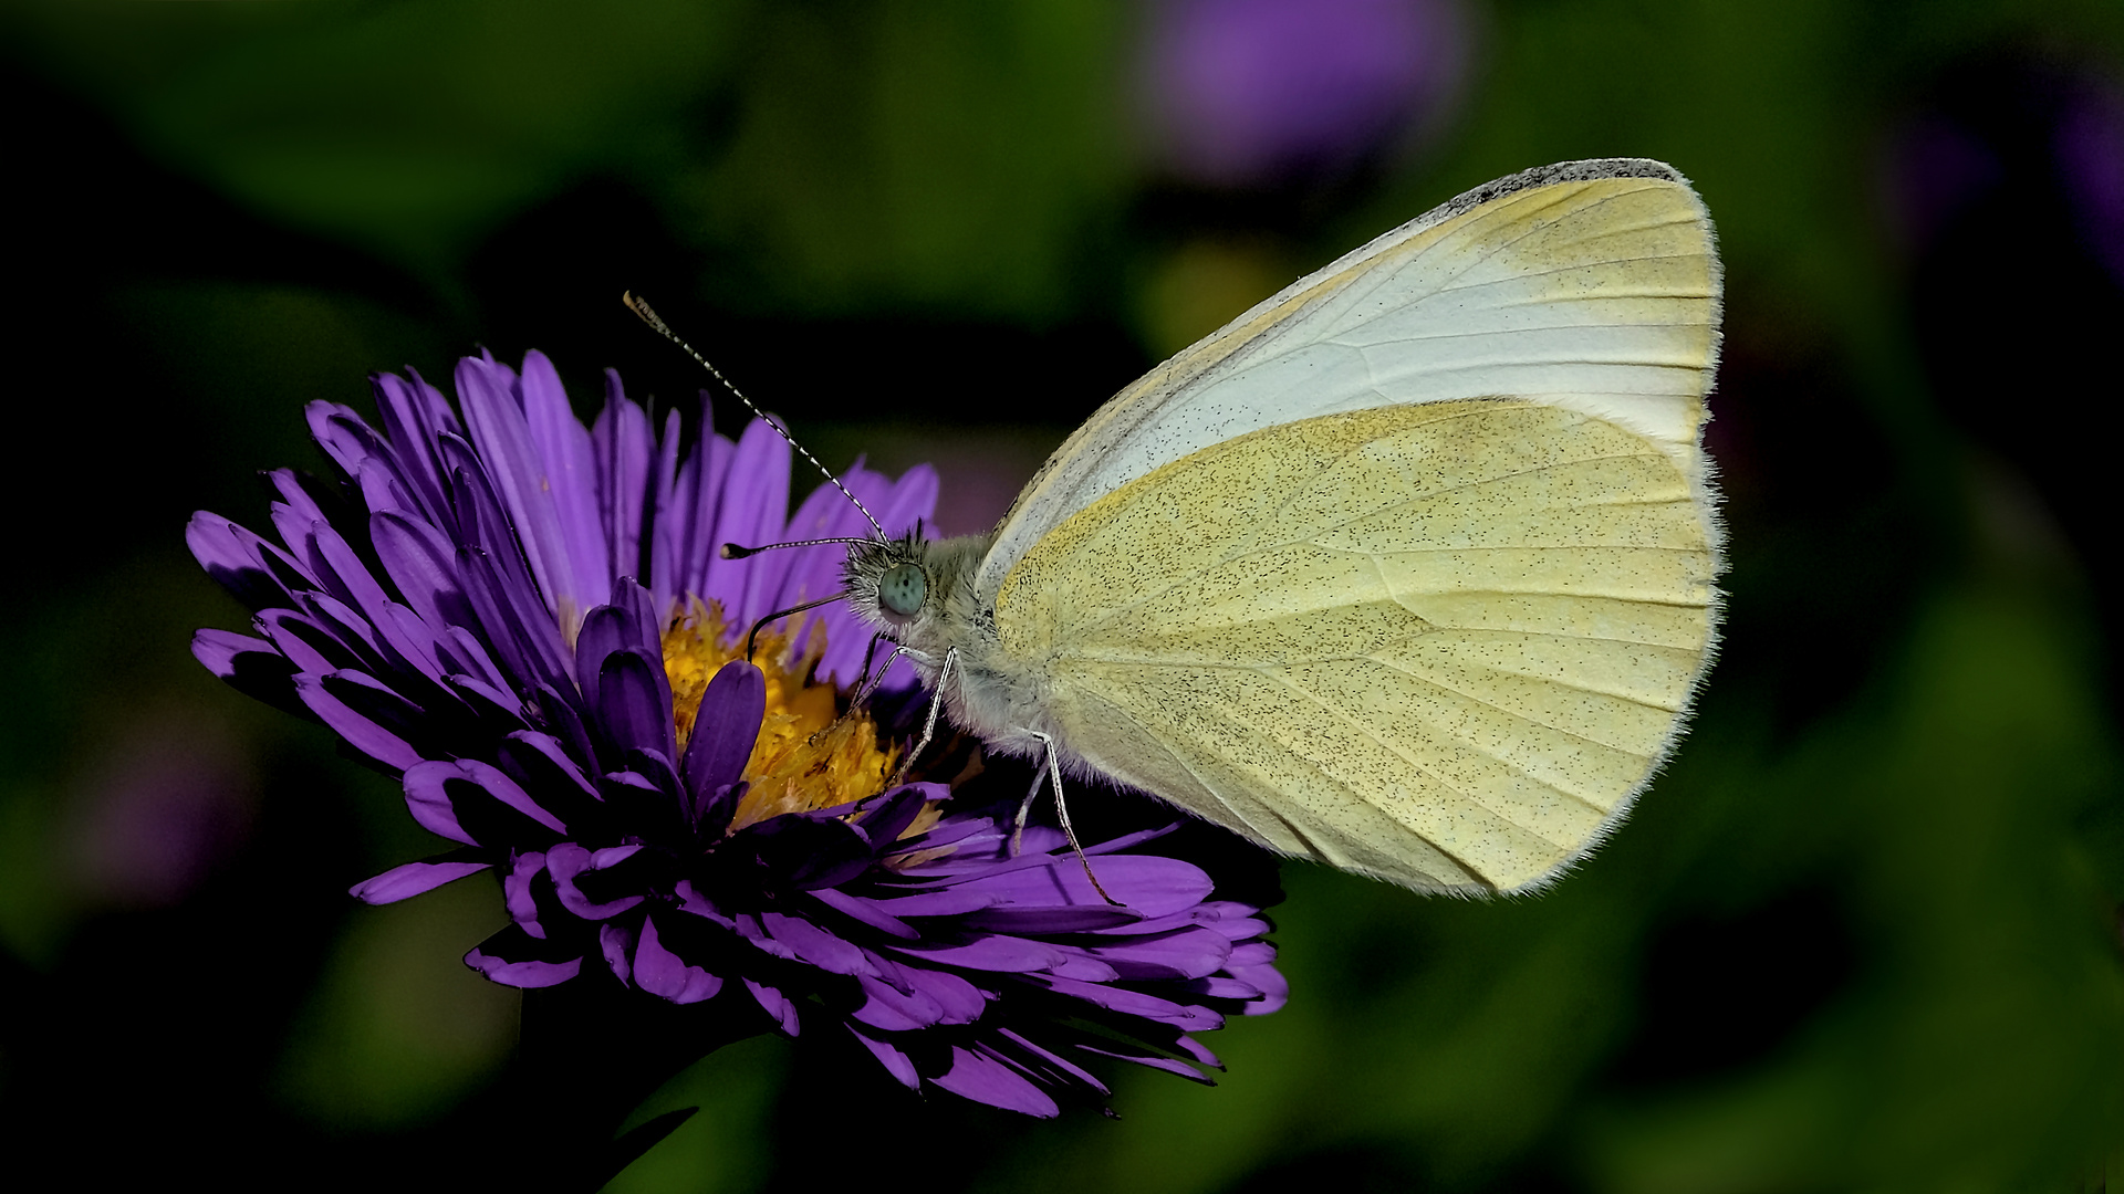
POLYGON ((1417 888, 1555 875, 1678 733, 1710 510, 1663 444, 1521 399, 1330 414, 1066 518, 996 601, 1068 756, 1417 888))

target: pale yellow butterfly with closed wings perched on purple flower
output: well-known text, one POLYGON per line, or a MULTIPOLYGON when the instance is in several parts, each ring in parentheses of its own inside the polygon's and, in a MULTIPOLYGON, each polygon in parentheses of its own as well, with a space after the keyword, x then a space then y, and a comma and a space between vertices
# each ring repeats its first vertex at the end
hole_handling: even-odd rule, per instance
POLYGON ((1718 314, 1674 168, 1497 178, 1124 389, 994 533, 856 542, 845 599, 932 718, 1058 797, 1102 778, 1410 888, 1540 888, 1712 659, 1718 314))

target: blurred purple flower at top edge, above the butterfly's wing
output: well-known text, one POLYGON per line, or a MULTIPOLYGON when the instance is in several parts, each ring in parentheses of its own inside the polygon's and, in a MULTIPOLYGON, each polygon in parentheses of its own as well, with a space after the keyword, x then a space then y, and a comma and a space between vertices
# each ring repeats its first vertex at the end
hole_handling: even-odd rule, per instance
POLYGON ((1332 174, 1459 89, 1457 0, 1162 0, 1143 53, 1153 134, 1211 185, 1332 174))

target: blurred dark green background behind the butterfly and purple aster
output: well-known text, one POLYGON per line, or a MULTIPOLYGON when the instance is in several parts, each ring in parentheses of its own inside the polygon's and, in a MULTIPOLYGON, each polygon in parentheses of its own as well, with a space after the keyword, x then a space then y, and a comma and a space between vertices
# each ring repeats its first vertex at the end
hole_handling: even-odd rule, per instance
POLYGON ((1631 824, 1540 899, 1287 865, 1215 1090, 1030 1122, 756 1039, 614 1190, 2124 1188, 2124 4, 8 0, 0 70, 0 1164, 478 1154, 499 903, 346 899, 429 850, 393 786, 185 648, 242 625, 185 516, 261 527, 304 402, 476 344, 690 395, 631 287, 964 531, 1300 272, 1644 155, 1718 221, 1733 557, 1631 824))

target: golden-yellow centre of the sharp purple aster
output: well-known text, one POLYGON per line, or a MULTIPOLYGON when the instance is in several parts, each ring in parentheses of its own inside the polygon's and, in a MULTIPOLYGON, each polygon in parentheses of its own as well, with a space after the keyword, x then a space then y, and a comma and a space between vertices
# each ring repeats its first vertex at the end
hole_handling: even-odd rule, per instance
MULTIPOLYGON (((811 627, 803 654, 790 648, 790 631, 763 629, 752 652, 752 663, 767 676, 767 718, 746 761, 752 788, 737 801, 731 833, 786 812, 826 809, 875 795, 898 756, 877 746, 869 710, 841 716, 833 684, 811 678, 826 652, 826 627, 811 627)), ((707 682, 746 656, 746 639, 729 635, 720 605, 695 597, 665 631, 663 654, 671 720, 684 754, 707 682)), ((928 829, 937 816, 937 805, 930 805, 907 835, 928 829)))

